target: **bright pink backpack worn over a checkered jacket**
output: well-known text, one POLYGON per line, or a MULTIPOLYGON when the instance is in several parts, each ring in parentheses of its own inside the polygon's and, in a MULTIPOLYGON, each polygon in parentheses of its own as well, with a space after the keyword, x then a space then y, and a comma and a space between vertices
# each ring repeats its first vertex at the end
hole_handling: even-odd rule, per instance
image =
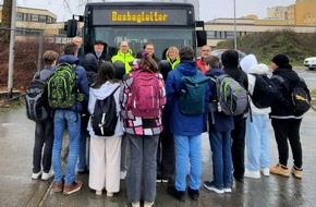
POLYGON ((144 119, 160 115, 166 98, 162 94, 163 82, 159 75, 149 69, 138 69, 132 71, 130 76, 133 82, 126 106, 133 115, 144 119))

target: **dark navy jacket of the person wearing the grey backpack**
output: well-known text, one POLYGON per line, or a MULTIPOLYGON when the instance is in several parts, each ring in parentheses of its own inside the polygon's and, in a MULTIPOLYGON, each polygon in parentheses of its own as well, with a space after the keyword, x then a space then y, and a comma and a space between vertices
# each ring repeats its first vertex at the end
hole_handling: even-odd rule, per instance
MULTIPOLYGON (((224 74, 223 70, 221 69, 210 69, 208 70, 205 75, 210 76, 210 77, 216 77, 219 75, 224 74)), ((209 82, 209 101, 211 102, 212 100, 216 100, 216 85, 215 82, 209 82)), ((234 127, 233 124, 233 117, 232 115, 227 115, 223 112, 211 112, 208 113, 208 126, 209 131, 215 130, 216 132, 227 132, 227 131, 232 131, 234 127)))

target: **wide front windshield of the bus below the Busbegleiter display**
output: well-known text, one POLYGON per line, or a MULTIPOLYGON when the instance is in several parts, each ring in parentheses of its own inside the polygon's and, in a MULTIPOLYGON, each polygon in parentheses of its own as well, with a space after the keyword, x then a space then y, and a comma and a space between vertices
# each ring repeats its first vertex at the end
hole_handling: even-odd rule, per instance
POLYGON ((153 42, 155 46, 155 56, 163 59, 163 52, 170 46, 178 48, 192 47, 194 31, 189 28, 139 28, 139 27, 95 27, 90 31, 90 41, 101 39, 108 45, 108 53, 113 56, 121 41, 130 44, 133 52, 143 49, 146 42, 153 42), (168 29, 168 31, 167 31, 168 29))

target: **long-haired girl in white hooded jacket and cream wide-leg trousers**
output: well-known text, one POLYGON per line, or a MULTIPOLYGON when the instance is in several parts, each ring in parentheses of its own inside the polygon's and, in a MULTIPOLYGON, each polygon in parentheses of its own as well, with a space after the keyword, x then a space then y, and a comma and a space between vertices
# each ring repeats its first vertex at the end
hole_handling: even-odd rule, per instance
POLYGON ((104 62, 98 71, 96 81, 90 87, 88 110, 93 115, 97 99, 102 100, 113 94, 117 105, 118 123, 112 136, 98 136, 88 122, 90 134, 89 187, 97 195, 106 188, 107 196, 120 191, 121 138, 123 123, 120 119, 120 83, 114 80, 114 68, 110 62, 104 62))

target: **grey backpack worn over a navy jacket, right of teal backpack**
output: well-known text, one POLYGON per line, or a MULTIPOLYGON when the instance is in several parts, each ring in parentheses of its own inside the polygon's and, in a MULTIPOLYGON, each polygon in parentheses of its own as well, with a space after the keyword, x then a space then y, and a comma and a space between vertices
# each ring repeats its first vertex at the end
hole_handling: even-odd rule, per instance
POLYGON ((248 108, 247 92, 231 76, 223 74, 216 77, 218 111, 227 115, 239 115, 248 108))

